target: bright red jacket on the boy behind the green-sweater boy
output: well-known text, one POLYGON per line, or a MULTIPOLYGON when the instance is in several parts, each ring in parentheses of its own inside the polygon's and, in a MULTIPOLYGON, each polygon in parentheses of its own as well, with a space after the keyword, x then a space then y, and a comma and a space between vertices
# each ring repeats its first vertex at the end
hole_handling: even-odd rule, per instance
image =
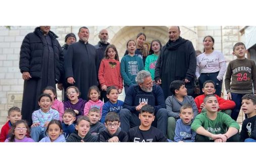
MULTIPOLYGON (((198 108, 198 113, 201 113, 201 108, 200 104, 203 102, 204 97, 206 97, 205 94, 199 95, 197 97, 195 97, 195 104, 198 108)), ((224 98, 219 97, 217 94, 215 94, 215 97, 217 97, 217 100, 219 102, 219 110, 223 110, 223 109, 233 109, 235 107, 235 102, 232 100, 225 100, 224 98)))

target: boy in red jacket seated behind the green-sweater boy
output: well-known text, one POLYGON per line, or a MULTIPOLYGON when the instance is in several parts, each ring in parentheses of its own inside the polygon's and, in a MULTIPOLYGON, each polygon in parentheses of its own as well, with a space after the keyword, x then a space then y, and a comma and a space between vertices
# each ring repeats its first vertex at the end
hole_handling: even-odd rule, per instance
MULTIPOLYGON (((204 97, 206 97, 207 95, 210 95, 210 94, 214 94, 215 91, 216 91, 216 89, 215 89, 214 81, 207 80, 203 83, 202 92, 204 94, 195 97, 195 104, 198 108, 199 113, 206 112, 206 109, 204 108, 204 103, 203 103, 204 97)), ((231 116, 232 109, 235 107, 235 102, 232 100, 225 100, 224 98, 219 97, 217 94, 214 94, 214 95, 216 96, 218 103, 219 103, 220 108, 218 110, 221 110, 221 112, 226 113, 227 115, 231 116)))

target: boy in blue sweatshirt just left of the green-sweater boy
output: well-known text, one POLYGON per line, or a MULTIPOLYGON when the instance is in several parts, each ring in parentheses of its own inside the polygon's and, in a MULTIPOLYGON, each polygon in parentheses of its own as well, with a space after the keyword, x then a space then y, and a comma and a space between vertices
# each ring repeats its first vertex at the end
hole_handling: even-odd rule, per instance
POLYGON ((190 104, 180 107, 180 119, 176 122, 174 142, 194 142, 196 132, 191 130, 193 109, 190 104))

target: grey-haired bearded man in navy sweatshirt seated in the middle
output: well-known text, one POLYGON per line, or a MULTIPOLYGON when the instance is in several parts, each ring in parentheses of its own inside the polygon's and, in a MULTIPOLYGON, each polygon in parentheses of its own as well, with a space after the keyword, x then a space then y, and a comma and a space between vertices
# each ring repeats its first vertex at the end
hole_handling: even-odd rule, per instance
POLYGON ((124 108, 120 110, 120 122, 123 131, 140 125, 138 118, 140 109, 145 104, 155 107, 156 119, 152 126, 160 129, 164 135, 167 130, 167 109, 162 88, 154 85, 148 71, 140 71, 136 77, 137 84, 129 87, 124 100, 124 108))

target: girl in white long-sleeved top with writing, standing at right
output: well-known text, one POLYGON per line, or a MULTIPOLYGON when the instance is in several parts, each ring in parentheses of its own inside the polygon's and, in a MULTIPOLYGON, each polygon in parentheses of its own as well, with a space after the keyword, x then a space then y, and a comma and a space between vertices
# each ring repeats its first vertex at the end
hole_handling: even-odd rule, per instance
POLYGON ((196 57, 195 76, 199 82, 200 94, 203 83, 207 80, 215 82, 216 94, 221 96, 222 79, 227 69, 226 60, 220 51, 214 50, 214 38, 206 36, 203 38, 203 53, 196 57))

